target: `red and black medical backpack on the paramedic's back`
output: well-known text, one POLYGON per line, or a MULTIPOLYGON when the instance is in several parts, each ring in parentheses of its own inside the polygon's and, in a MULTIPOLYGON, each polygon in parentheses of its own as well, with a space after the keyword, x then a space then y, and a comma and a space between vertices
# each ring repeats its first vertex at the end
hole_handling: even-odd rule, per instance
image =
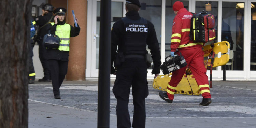
POLYGON ((194 42, 208 42, 215 39, 215 19, 213 14, 202 11, 199 14, 192 13, 189 37, 194 42))

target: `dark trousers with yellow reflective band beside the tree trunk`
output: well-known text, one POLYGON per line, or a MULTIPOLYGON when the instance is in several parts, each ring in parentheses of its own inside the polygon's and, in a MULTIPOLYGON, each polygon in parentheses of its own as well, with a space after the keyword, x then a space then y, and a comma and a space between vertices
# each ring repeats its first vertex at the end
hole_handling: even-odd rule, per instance
POLYGON ((34 48, 34 44, 33 44, 33 40, 30 39, 30 43, 29 43, 29 79, 33 79, 35 80, 35 69, 34 69, 34 65, 33 65, 33 48, 34 48))

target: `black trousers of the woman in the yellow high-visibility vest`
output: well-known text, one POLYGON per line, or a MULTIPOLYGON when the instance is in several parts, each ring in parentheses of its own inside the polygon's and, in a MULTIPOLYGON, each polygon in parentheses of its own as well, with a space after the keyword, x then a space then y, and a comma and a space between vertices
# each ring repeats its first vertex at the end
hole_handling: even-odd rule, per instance
POLYGON ((59 88, 65 79, 65 75, 67 74, 68 61, 51 59, 48 60, 48 62, 51 70, 53 94, 54 96, 60 95, 59 88))

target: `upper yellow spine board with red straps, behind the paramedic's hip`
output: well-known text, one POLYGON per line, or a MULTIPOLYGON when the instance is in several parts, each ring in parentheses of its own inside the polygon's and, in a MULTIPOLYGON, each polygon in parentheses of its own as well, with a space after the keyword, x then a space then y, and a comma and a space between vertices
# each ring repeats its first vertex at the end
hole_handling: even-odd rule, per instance
MULTIPOLYGON (((214 47, 213 47, 213 52, 215 52, 216 56, 218 53, 221 53, 221 57, 215 57, 214 58, 214 62, 213 62, 213 68, 217 67, 217 66, 222 66, 222 65, 226 65, 226 63, 229 61, 229 54, 230 54, 230 45, 229 42, 227 41, 222 41, 222 42, 218 42, 218 43, 214 43, 214 47)), ((204 65, 206 66, 210 66, 211 65, 211 60, 209 59, 207 61, 207 57, 209 56, 209 54, 212 51, 212 47, 211 45, 205 45, 203 46, 203 52, 204 52, 204 65)))

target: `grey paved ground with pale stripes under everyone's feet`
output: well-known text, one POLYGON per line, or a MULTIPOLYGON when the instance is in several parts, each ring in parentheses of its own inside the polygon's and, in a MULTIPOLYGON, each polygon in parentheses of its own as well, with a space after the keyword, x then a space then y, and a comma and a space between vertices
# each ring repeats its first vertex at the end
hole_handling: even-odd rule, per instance
MULTIPOLYGON (((199 106, 202 96, 175 94, 172 104, 149 81, 146 128, 256 128, 256 82, 213 81, 212 103, 199 106)), ((110 89, 110 128, 116 127, 116 99, 110 89)), ((96 128, 98 81, 64 81, 61 99, 51 83, 29 84, 29 128, 96 128)), ((133 116, 132 95, 129 100, 133 116)), ((132 118, 131 118, 132 121, 132 118)))

